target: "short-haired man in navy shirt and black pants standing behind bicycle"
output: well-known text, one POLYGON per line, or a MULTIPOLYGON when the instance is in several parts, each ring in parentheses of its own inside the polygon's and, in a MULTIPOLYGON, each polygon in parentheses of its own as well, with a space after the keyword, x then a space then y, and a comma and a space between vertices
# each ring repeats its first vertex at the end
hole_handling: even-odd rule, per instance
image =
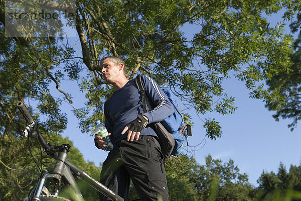
MULTIPOLYGON (((152 78, 142 75, 145 94, 154 108, 143 113, 141 95, 135 80, 126 78, 123 60, 105 57, 100 66, 103 79, 115 90, 104 104, 105 127, 114 148, 103 163, 100 182, 123 196, 129 175, 141 200, 157 201, 158 196, 169 200, 164 156, 150 125, 173 114, 173 105, 152 78)), ((100 136, 95 136, 95 145, 104 148, 100 136)), ((100 200, 107 199, 100 195, 100 200)))

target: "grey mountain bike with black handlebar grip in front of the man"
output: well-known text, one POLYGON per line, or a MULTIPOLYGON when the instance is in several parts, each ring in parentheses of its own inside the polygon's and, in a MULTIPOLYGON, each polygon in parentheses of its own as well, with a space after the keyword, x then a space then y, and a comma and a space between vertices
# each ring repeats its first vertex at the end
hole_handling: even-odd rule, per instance
POLYGON ((69 189, 72 189, 75 194, 72 200, 84 201, 84 197, 81 194, 75 178, 84 180, 98 192, 114 201, 128 200, 129 178, 128 185, 125 186, 127 189, 123 197, 121 197, 68 160, 68 152, 71 148, 69 144, 53 146, 47 143, 38 130, 39 123, 33 121, 25 105, 22 102, 18 102, 17 107, 27 122, 27 127, 22 133, 20 132, 20 135, 37 139, 43 147, 43 151, 49 157, 56 160, 52 173, 49 173, 47 169, 42 171, 37 185, 30 190, 28 197, 24 198, 23 201, 70 201, 67 198, 59 196, 62 182, 64 182, 69 189))

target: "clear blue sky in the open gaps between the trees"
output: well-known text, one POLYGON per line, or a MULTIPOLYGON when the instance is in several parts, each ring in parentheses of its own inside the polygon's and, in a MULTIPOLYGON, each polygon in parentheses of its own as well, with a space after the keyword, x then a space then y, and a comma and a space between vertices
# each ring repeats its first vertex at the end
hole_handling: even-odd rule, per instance
MULTIPOLYGON (((269 19, 274 25, 279 20, 274 17, 269 19)), ((79 42, 77 44, 79 45, 79 42)), ((206 139, 202 142, 205 137, 203 123, 194 111, 189 112, 194 122, 193 136, 189 137, 189 144, 195 146, 202 142, 195 148, 198 151, 193 153, 197 162, 204 164, 205 156, 208 154, 223 162, 233 159, 235 165, 240 169, 240 173, 247 173, 249 182, 255 186, 257 186, 256 180, 263 170, 277 172, 280 162, 286 166, 287 170, 291 164, 299 165, 301 159, 301 150, 298 148, 299 142, 301 142, 300 126, 290 132, 287 128, 289 120, 276 122, 272 118, 273 112, 264 108, 262 100, 249 98, 248 90, 243 82, 235 79, 225 80, 223 87, 229 96, 235 97, 238 109, 232 115, 207 115, 220 122, 223 131, 221 138, 215 141, 206 139)), ((72 90, 68 92, 72 93, 74 97, 73 107, 83 107, 85 102, 83 94, 74 86, 74 83, 65 81, 61 84, 62 90, 70 88, 72 90)), ((66 107, 64 112, 68 115, 69 123, 63 136, 73 141, 74 146, 80 150, 85 160, 99 165, 105 160, 107 152, 94 146, 93 136, 80 132, 80 129, 77 128, 78 120, 69 112, 72 108, 68 105, 64 107, 66 107)), ((70 160, 72 161, 72 159, 70 160)))

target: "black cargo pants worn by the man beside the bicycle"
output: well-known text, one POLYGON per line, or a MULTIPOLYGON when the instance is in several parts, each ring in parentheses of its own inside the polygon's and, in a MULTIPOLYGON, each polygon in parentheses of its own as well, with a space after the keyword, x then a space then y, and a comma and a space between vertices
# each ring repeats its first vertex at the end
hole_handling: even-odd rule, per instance
MULTIPOLYGON (((114 144, 103 162, 100 182, 123 196, 126 176, 130 176, 141 200, 169 200, 164 157, 157 139, 143 135, 133 142, 114 144)), ((110 200, 100 193, 100 200, 110 200)))

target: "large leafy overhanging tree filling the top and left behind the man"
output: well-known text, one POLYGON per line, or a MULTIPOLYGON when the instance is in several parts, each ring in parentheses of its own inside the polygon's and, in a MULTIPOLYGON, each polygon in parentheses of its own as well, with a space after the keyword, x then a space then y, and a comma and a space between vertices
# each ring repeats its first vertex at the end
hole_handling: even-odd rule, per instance
MULTIPOLYGON (((5 21, 5 2, 0 3, 1 171, 5 178, 14 178, 13 185, 19 190, 31 185, 34 171, 23 175, 24 183, 21 177, 14 177, 16 170, 33 168, 12 124, 21 121, 17 101, 28 105, 40 122, 41 132, 50 139, 66 128, 68 120, 62 103, 72 105, 72 91, 62 90, 64 80, 79 83, 87 103, 73 112, 80 120, 81 131, 89 132, 91 122, 102 119, 104 101, 112 93, 112 87, 101 80, 99 61, 105 55, 122 57, 129 78, 143 72, 160 85, 169 86, 187 108, 195 109, 200 116, 212 111, 223 115, 235 111, 234 98, 222 87, 223 80, 230 76, 244 81, 254 97, 282 100, 277 90, 266 90, 263 81, 290 66, 291 37, 283 35, 281 26, 270 27, 261 15, 277 12, 283 6, 280 0, 27 1, 47 10, 76 8, 76 21, 65 20, 75 25, 78 52, 68 37, 5 37, 10 24, 5 21), (185 35, 190 26, 195 30, 192 38, 185 35), (52 88, 61 96, 57 97, 52 88)), ((44 22, 37 25, 45 27, 44 22)), ((63 22, 56 25, 54 31, 58 33, 63 22)), ((221 136, 217 120, 202 121, 209 138, 221 136)), ((6 180, 3 186, 5 192, 12 185, 6 180)), ((14 192, 2 196, 16 196, 14 192)))

